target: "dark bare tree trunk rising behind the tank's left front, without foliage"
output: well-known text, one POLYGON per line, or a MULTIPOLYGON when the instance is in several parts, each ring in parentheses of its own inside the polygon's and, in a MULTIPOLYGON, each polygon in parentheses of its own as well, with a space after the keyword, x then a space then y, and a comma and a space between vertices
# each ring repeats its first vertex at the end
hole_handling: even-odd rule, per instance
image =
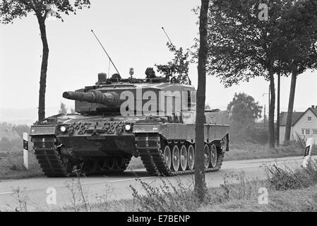
POLYGON ((47 78, 47 63, 49 59, 49 45, 47 44, 45 18, 42 16, 37 16, 37 20, 40 25, 41 40, 43 44, 42 66, 41 66, 41 75, 40 75, 39 109, 38 109, 39 120, 42 120, 45 118, 45 91, 46 91, 46 78, 47 78))

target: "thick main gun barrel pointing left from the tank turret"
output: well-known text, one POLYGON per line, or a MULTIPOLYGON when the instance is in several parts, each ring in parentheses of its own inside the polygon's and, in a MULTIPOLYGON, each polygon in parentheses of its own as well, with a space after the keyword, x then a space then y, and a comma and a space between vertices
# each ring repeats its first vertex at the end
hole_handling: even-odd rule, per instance
POLYGON ((68 100, 87 101, 90 103, 106 105, 107 107, 119 107, 120 104, 118 93, 102 93, 100 90, 89 90, 87 93, 68 91, 63 93, 63 97, 68 100))

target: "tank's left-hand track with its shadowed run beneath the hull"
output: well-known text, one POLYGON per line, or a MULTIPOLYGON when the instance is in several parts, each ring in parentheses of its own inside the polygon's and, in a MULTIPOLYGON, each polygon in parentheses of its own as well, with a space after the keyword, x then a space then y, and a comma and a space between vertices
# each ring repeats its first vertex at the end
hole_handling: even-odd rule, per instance
POLYGON ((33 150, 37 161, 47 177, 70 177, 76 176, 77 172, 85 175, 124 172, 131 160, 131 157, 125 158, 124 164, 119 169, 114 167, 110 169, 109 166, 104 165, 104 162, 109 158, 100 159, 100 157, 86 158, 74 165, 71 161, 64 162, 62 160, 55 136, 36 136, 32 138, 32 142, 34 143, 33 150), (103 164, 96 167, 97 161, 100 160, 103 160, 103 164))

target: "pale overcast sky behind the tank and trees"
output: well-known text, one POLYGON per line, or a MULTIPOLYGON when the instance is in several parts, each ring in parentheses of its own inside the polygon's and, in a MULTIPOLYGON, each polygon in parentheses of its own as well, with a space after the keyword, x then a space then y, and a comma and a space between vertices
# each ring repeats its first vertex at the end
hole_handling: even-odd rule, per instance
MULTIPOLYGON (((77 15, 47 21, 49 64, 46 107, 74 102, 61 97, 64 91, 77 90, 97 81, 97 73, 108 73, 109 60, 90 32, 93 29, 122 77, 129 68, 136 78, 145 69, 166 64, 172 54, 166 46, 165 28, 177 47, 188 48, 198 37, 198 17, 191 11, 199 0, 91 0, 91 7, 77 15)), ((0 25, 0 108, 36 108, 40 82, 42 42, 37 19, 32 13, 13 24, 0 25)), ((115 73, 110 66, 110 74, 115 73)), ((190 66, 190 78, 197 85, 197 65, 190 66)), ((206 102, 225 109, 234 93, 244 92, 268 106, 268 82, 255 78, 225 88, 218 78, 208 76, 206 102)), ((281 109, 287 110, 290 78, 281 81, 281 109)), ((304 111, 317 105, 317 76, 304 73, 297 81, 294 109, 304 111)), ((47 115, 48 116, 48 115, 47 115)), ((36 116, 35 116, 36 117, 36 116)))

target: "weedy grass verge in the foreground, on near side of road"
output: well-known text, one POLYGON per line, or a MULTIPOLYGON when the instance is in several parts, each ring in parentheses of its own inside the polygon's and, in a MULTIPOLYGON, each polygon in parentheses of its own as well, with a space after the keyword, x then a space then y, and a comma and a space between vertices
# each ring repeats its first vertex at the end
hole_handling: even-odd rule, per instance
MULTIPOLYGON (((266 168, 267 179, 246 179, 244 174, 227 174, 219 187, 209 188, 203 203, 193 191, 193 182, 160 178, 152 186, 136 179, 144 192, 131 186, 132 199, 101 201, 91 211, 317 211, 317 162, 307 169, 266 168), (263 201, 263 194, 267 202, 263 201)), ((109 196, 109 193, 105 193, 109 196)), ((73 208, 74 209, 74 208, 73 208)), ((66 208, 64 210, 71 210, 66 208)), ((85 205, 76 210, 85 211, 85 205)))

